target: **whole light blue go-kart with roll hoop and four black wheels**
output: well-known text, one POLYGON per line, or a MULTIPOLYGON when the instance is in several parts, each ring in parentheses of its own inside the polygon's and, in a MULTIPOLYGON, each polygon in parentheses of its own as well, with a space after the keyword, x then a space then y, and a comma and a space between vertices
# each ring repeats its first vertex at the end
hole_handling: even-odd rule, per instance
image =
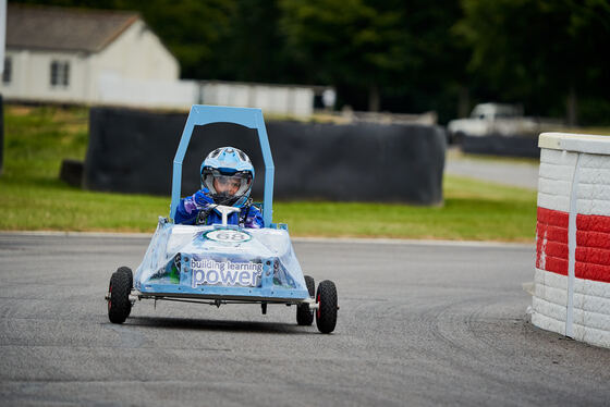
POLYGON ((170 218, 159 218, 157 231, 135 275, 127 267, 110 278, 106 299, 108 317, 123 323, 142 299, 223 304, 257 304, 267 313, 269 304, 296 306, 296 323, 330 333, 337 324, 337 288, 325 280, 315 289, 303 275, 285 224, 272 223, 273 159, 260 109, 195 104, 173 161, 170 218), (221 224, 181 225, 173 219, 181 196, 182 160, 196 125, 234 123, 258 132, 265 161, 263 218, 266 227, 243 229, 227 224, 237 208, 216 206, 221 224))

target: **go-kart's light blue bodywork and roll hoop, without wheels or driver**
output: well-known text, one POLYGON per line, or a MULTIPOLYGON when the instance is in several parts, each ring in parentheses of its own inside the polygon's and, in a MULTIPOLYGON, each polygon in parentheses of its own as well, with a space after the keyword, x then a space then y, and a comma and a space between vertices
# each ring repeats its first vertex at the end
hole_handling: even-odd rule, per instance
POLYGON ((273 161, 260 109, 193 106, 173 162, 169 219, 159 219, 134 275, 138 298, 195 298, 253 303, 310 301, 288 227, 272 222, 273 161), (234 123, 258 132, 265 160, 266 227, 174 224, 182 160, 195 125, 234 123))

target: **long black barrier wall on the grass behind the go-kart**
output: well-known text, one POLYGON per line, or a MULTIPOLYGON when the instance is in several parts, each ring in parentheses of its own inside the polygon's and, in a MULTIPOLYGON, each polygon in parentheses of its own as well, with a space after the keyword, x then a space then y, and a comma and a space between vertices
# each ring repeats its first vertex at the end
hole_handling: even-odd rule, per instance
MULTIPOLYGON (((85 187, 169 196, 185 122, 186 114, 91 109, 85 187)), ((276 166, 276 198, 442 201, 446 136, 441 127, 279 121, 266 125, 276 166)), ((261 200, 265 171, 256 131, 227 123, 195 128, 182 166, 182 196, 199 187, 202 160, 221 146, 235 146, 251 156, 256 169, 253 196, 261 200)))

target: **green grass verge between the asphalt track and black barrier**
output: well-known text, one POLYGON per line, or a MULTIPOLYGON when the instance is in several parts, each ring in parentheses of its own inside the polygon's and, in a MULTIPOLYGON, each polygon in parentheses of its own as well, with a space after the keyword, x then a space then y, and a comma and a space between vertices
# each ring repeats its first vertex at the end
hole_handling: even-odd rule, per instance
MULTIPOLYGON (((59 180, 63 158, 84 159, 85 108, 4 107, 0 230, 152 232, 169 197, 81 190, 59 180)), ((297 236, 532 242, 536 193, 444 177, 444 203, 274 202, 273 219, 297 236)))

